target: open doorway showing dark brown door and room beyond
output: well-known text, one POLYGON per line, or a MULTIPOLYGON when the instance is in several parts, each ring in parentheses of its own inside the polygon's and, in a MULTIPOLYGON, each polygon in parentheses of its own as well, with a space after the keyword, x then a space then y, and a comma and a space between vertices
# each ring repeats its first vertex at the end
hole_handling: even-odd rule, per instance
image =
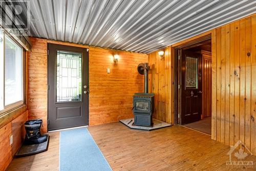
POLYGON ((211 39, 175 48, 176 124, 211 135, 211 39))

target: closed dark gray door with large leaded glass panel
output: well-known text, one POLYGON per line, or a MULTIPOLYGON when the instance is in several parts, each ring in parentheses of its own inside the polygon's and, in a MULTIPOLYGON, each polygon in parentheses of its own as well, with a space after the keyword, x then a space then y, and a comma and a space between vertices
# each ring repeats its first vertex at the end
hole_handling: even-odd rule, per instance
POLYGON ((48 50, 48 130, 88 125, 88 50, 50 43, 48 50))

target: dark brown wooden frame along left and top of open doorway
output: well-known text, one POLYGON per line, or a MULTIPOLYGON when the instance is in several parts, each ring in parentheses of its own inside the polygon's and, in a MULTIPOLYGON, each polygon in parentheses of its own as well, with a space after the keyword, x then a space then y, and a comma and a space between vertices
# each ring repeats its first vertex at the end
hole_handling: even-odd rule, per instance
POLYGON ((172 51, 174 54, 174 124, 180 125, 180 115, 181 115, 181 89, 179 88, 179 83, 181 82, 181 55, 179 54, 180 49, 188 49, 192 47, 199 46, 204 41, 211 40, 211 33, 197 37, 194 40, 184 42, 177 46, 172 46, 172 51), (180 57, 179 57, 180 56, 180 57))

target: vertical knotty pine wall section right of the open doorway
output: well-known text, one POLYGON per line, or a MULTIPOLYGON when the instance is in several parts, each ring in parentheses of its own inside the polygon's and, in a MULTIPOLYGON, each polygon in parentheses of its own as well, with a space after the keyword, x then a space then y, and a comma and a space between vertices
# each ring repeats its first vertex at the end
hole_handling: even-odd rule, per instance
POLYGON ((212 139, 256 154, 256 15, 217 28, 212 44, 212 139), (215 88, 216 87, 216 88, 215 88), (215 114, 216 113, 216 114, 215 114))

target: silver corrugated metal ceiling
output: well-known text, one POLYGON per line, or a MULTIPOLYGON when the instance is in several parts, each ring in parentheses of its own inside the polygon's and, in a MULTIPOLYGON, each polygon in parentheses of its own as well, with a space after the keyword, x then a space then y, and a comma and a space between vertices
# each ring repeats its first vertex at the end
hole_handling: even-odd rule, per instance
POLYGON ((30 1, 31 34, 150 53, 256 12, 255 0, 30 1))

